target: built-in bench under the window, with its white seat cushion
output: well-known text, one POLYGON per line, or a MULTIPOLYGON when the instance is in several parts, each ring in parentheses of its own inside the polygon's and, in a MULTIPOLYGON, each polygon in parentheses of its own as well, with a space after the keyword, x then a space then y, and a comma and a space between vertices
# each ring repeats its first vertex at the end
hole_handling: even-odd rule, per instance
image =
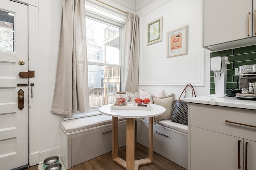
MULTIPOLYGON (((62 121, 60 156, 66 169, 112 151, 112 117, 94 115, 62 121)), ((118 147, 126 145, 126 119, 118 118, 118 147)))

